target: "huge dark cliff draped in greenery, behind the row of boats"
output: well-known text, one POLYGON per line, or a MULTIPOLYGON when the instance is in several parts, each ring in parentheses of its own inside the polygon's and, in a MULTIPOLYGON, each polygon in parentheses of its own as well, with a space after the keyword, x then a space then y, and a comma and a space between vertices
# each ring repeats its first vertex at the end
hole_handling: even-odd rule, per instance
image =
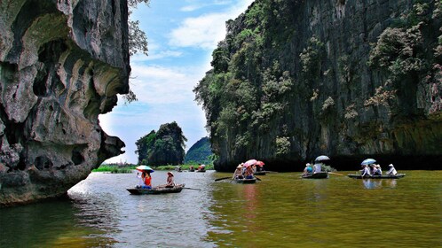
POLYGON ((321 154, 338 169, 442 168, 438 1, 274 2, 227 22, 194 89, 217 170, 301 170, 321 154))

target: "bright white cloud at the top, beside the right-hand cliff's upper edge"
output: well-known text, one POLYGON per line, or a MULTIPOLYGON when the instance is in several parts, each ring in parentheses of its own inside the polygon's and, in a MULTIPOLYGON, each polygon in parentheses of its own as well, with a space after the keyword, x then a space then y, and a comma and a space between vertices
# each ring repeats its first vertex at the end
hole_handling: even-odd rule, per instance
MULTIPOLYGON (((221 3, 221 2, 220 2, 221 3)), ((225 38, 225 21, 238 17, 253 0, 242 0, 226 12, 203 14, 185 19, 170 33, 170 45, 212 50, 225 38)))

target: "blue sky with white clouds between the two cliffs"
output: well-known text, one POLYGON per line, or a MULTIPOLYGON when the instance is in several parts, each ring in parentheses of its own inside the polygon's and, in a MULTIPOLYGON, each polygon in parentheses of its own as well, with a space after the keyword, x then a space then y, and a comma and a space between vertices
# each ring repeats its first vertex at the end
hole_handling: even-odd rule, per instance
POLYGON ((138 162, 135 142, 176 121, 187 138, 185 151, 204 136, 206 119, 193 88, 211 68, 211 54, 225 38, 225 21, 236 19, 253 0, 151 0, 138 4, 130 19, 146 33, 148 56, 130 58, 130 89, 137 102, 119 96, 112 112, 99 116, 109 136, 126 144, 124 154, 106 163, 138 162))

